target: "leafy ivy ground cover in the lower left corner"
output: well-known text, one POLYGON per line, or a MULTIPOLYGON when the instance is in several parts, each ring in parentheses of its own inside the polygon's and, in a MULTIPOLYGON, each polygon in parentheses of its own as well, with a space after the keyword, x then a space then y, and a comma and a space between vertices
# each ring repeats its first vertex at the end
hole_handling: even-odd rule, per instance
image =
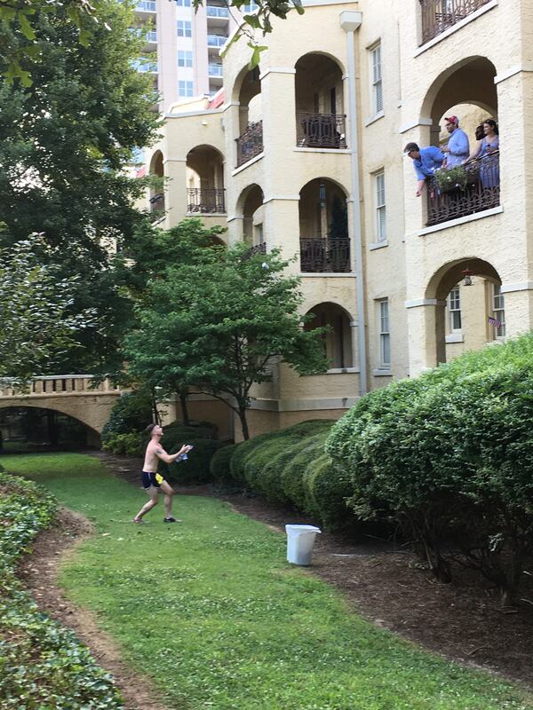
POLYGON ((56 510, 42 486, 0 466, 0 707, 122 710, 111 675, 72 631, 38 610, 15 574, 56 510))

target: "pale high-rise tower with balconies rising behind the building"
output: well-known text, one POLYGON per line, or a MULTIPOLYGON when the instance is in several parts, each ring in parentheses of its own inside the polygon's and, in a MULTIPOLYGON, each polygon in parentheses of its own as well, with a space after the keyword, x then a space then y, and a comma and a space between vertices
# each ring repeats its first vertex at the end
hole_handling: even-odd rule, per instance
POLYGON ((176 101, 219 91, 223 81, 220 48, 243 14, 256 7, 251 2, 241 13, 222 0, 206 0, 195 12, 191 0, 139 0, 137 27, 147 43, 138 67, 154 74, 161 113, 176 101))

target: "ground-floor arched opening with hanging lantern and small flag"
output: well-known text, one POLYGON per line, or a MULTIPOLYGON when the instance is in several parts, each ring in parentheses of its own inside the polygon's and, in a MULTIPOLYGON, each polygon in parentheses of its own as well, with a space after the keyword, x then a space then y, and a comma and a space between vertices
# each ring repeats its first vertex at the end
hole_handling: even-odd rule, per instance
POLYGON ((478 258, 445 264, 426 294, 435 299, 438 363, 505 338, 505 296, 496 269, 478 258))

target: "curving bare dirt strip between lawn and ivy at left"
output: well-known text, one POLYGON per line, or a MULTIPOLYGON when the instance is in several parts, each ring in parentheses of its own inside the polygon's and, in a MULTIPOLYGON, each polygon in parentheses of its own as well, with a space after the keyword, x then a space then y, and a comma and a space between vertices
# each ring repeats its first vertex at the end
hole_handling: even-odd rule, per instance
POLYGON ((116 643, 98 627, 90 611, 71 604, 61 594, 57 579, 62 563, 76 552, 76 547, 92 534, 91 523, 68 509, 60 509, 53 525, 41 533, 31 555, 19 567, 20 579, 41 609, 74 629, 78 638, 90 649, 100 667, 115 678, 127 710, 169 710, 157 699, 148 678, 134 674, 121 660, 116 643))

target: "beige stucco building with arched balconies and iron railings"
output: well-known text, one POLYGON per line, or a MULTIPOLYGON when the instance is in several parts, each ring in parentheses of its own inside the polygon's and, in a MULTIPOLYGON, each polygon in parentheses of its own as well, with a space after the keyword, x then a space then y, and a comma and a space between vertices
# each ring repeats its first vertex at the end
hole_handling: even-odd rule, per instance
POLYGON ((331 327, 328 374, 274 369, 254 433, 338 417, 533 319, 533 0, 304 6, 274 22, 259 68, 231 46, 221 106, 171 106, 150 163, 168 178, 162 226, 200 215, 228 243, 298 255, 304 310, 331 327), (451 113, 471 152, 477 122, 496 119, 501 154, 417 197, 403 147, 446 145, 451 113))

